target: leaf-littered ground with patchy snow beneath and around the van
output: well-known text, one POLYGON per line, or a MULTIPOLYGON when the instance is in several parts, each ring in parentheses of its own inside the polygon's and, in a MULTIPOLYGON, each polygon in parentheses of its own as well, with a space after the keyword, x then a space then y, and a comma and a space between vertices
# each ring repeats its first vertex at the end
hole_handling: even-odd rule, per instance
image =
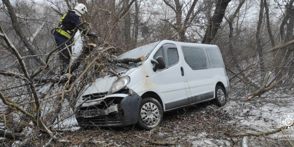
MULTIPOLYGON (((70 142, 64 142, 63 145, 155 146, 150 141, 158 141, 175 142, 179 147, 227 147, 230 146, 230 138, 224 133, 272 131, 280 127, 280 117, 284 113, 294 113, 293 104, 286 107, 256 100, 230 100, 223 108, 212 103, 202 103, 164 113, 163 123, 151 131, 142 131, 136 126, 90 130, 81 128, 65 133, 63 139, 70 142)), ((294 131, 286 133, 294 134, 294 131)), ((273 135, 268 137, 275 146, 289 146, 285 141, 275 141, 273 135)), ((242 140, 234 138, 234 146, 242 146, 242 140)), ((250 137, 249 146, 267 145, 263 137, 250 137)))

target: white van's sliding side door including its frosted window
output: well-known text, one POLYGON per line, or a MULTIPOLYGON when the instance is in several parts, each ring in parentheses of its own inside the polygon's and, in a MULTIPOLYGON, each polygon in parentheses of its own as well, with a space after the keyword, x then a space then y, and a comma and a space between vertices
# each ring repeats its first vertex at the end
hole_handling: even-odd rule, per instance
POLYGON ((205 48, 196 46, 182 46, 184 54, 184 69, 191 96, 190 103, 206 101, 214 97, 215 73, 209 70, 208 56, 205 48))

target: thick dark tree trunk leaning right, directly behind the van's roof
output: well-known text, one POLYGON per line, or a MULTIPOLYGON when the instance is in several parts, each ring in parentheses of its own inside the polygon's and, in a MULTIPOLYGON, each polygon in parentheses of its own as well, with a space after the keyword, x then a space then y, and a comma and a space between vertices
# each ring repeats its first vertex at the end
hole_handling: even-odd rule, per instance
POLYGON ((216 36, 220 23, 223 21, 225 9, 231 0, 218 0, 213 16, 208 20, 208 26, 203 37, 203 44, 211 44, 216 36))

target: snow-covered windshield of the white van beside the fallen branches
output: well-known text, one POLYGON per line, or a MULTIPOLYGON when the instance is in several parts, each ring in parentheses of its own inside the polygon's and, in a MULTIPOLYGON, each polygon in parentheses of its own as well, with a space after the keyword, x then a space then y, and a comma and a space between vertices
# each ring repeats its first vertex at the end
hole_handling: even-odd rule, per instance
POLYGON ((132 49, 131 51, 128 51, 128 52, 125 52, 125 53, 119 55, 117 58, 118 59, 122 59, 122 58, 138 58, 138 57, 141 57, 141 56, 145 56, 147 58, 150 51, 152 51, 154 49, 154 47, 158 43, 159 43, 159 41, 154 42, 152 44, 148 44, 148 45, 145 45, 145 46, 138 47, 136 49, 132 49))

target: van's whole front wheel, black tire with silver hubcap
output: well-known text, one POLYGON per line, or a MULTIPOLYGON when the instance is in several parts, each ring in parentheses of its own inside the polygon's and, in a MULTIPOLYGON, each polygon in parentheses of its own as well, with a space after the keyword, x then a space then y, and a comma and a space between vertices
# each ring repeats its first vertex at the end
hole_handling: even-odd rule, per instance
POLYGON ((161 104, 155 98, 151 98, 151 97, 146 97, 146 98, 142 99, 138 113, 139 113, 138 114, 138 125, 141 128, 146 129, 146 130, 151 130, 151 129, 155 128, 156 126, 158 126, 161 123, 161 121, 163 119, 163 109, 161 107, 161 104), (152 104, 154 104, 154 105, 152 105, 152 104), (151 109, 146 109, 149 106, 151 109), (155 106, 157 107, 158 111, 156 110, 155 106), (142 110, 142 107, 143 107, 143 110, 142 110), (152 109, 154 109, 154 110, 152 111, 152 109), (150 111, 148 111, 148 110, 150 110, 150 111), (143 112, 143 111, 146 111, 146 112, 143 112), (143 118, 142 118, 141 114, 142 114, 143 118), (156 118, 157 118, 157 121, 156 121, 156 118))

